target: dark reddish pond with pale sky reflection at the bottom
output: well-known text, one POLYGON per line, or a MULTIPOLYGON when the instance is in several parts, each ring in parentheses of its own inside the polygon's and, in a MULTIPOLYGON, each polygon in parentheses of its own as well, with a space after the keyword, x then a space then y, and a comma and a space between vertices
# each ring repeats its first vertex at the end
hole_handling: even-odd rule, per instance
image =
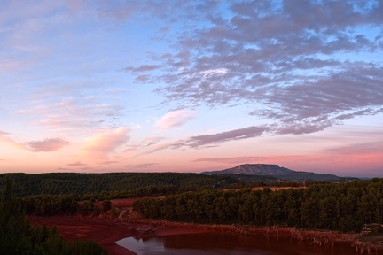
POLYGON ((201 254, 201 255, 349 255, 355 250, 342 243, 334 247, 317 247, 286 236, 238 236, 228 233, 208 232, 149 239, 129 237, 116 242, 138 255, 151 254, 201 254))

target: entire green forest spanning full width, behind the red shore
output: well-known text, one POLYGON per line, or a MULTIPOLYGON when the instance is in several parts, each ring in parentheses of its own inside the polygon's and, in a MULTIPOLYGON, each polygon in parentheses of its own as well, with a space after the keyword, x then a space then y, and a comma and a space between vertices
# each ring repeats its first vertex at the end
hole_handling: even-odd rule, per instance
MULTIPOLYGON (((0 177, 1 189, 6 187, 5 180, 13 183, 12 203, 18 204, 23 213, 39 216, 98 215, 111 209, 110 199, 165 196, 137 200, 133 209, 151 219, 341 232, 359 232, 364 224, 383 221, 383 179, 378 178, 311 182, 300 189, 272 191, 267 186, 263 190, 251 189, 264 183, 242 182, 224 175, 112 173, 0 174, 0 177)), ((292 182, 276 184, 300 186, 292 182)))

